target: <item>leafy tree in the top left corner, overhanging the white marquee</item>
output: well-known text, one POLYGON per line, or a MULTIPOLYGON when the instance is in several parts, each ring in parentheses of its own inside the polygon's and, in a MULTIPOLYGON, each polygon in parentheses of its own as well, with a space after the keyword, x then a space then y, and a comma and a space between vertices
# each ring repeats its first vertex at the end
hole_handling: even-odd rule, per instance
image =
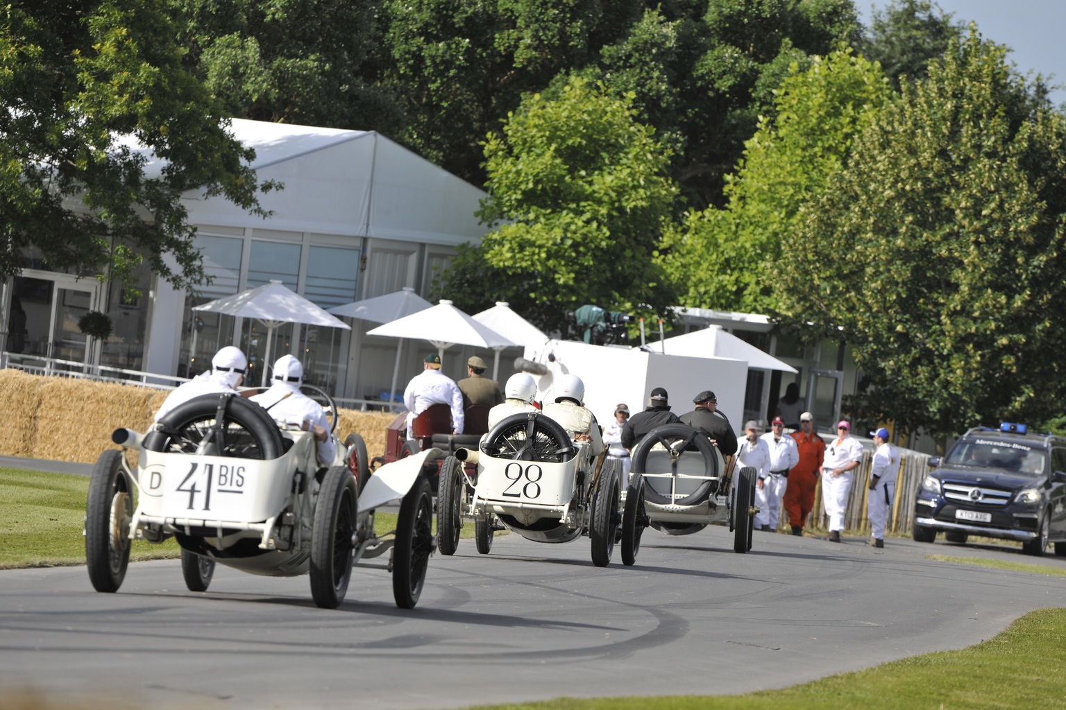
POLYGON ((127 281, 146 257, 174 284, 198 283, 180 194, 262 214, 263 186, 182 66, 164 3, 20 0, 0 17, 0 274, 36 250, 53 268, 127 281), (165 163, 149 166, 133 141, 165 163))

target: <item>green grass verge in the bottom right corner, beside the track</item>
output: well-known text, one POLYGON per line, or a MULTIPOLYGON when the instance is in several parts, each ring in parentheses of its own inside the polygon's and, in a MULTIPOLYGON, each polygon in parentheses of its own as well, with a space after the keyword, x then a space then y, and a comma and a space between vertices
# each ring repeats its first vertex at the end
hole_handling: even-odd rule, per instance
POLYGON ((744 695, 561 698, 471 710, 1032 710, 1066 708, 1066 609, 1025 614, 962 650, 744 695))

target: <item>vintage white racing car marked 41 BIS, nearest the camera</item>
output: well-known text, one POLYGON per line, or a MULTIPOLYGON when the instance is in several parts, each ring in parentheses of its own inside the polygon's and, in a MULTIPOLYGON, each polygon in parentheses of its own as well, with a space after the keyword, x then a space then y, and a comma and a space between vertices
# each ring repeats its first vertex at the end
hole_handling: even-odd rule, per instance
POLYGON ((310 433, 279 427, 233 394, 196 397, 147 434, 118 429, 112 439, 139 461, 131 467, 110 449, 93 468, 85 558, 97 591, 122 585, 130 540, 174 536, 191 591, 207 590, 217 562, 255 575, 309 574, 314 604, 333 609, 355 563, 392 573, 397 606, 418 602, 436 547, 430 488, 418 473, 438 450, 369 476, 366 445, 352 434, 346 448, 335 440, 335 460, 320 466, 310 433), (376 534, 374 510, 398 500, 395 530, 376 534), (365 562, 385 552, 387 562, 365 562))

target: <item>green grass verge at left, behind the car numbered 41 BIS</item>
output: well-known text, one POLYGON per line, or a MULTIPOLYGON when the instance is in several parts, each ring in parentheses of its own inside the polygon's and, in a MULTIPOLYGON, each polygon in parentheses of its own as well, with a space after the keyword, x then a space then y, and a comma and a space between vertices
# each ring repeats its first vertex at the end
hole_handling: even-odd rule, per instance
MULTIPOLYGON (((85 476, 0 467, 0 569, 85 564, 87 495, 85 476)), ((395 513, 374 515, 378 534, 395 526, 395 513)), ((473 523, 467 521, 462 536, 473 538, 473 523)), ((134 540, 130 550, 131 560, 180 556, 173 538, 158 545, 134 540)))

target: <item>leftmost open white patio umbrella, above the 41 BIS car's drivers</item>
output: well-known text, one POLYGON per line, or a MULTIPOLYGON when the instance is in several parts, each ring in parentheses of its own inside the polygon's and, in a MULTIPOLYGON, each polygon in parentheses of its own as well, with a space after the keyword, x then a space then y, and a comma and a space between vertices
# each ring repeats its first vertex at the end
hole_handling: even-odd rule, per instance
POLYGON ((266 363, 270 362, 274 329, 284 323, 327 326, 352 330, 351 326, 326 313, 303 296, 287 288, 280 281, 242 291, 233 296, 193 307, 194 311, 225 313, 239 318, 255 318, 266 328, 266 351, 263 357, 262 385, 266 384, 266 363))

